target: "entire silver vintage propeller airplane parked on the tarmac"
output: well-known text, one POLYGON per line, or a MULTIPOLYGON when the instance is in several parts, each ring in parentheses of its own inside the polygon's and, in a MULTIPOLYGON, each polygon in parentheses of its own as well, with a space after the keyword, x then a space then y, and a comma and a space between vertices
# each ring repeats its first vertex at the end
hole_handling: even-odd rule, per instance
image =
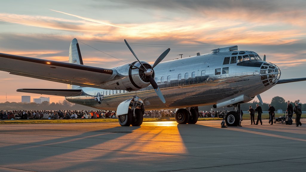
POLYGON ((0 53, 0 70, 68 84, 68 89, 18 89, 18 92, 64 96, 67 101, 97 109, 117 110, 121 126, 140 126, 146 110, 177 109, 179 124, 196 124, 198 106, 234 106, 225 116, 228 126, 241 121, 240 104, 276 84, 305 81, 280 79, 281 71, 262 60, 256 52, 223 47, 211 53, 161 62, 170 48, 153 65, 137 61, 110 69, 85 66, 79 44, 73 39, 69 63, 0 53))

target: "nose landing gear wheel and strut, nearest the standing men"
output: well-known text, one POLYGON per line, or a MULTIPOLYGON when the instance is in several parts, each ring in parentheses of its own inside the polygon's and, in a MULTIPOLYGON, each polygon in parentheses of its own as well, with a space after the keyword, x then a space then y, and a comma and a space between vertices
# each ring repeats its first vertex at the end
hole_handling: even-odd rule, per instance
POLYGON ((227 126, 241 126, 242 117, 240 104, 234 104, 234 107, 235 110, 228 112, 224 118, 227 126))

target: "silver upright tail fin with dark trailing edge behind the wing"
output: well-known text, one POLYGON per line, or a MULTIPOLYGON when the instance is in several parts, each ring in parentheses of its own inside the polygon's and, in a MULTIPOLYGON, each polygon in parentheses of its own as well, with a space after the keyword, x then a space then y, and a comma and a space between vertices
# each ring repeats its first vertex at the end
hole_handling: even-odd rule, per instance
MULTIPOLYGON (((79 47, 79 43, 77 42, 76 38, 74 38, 71 41, 70 48, 69 48, 69 63, 74 63, 74 64, 81 64, 83 65, 83 60, 82 60, 82 55, 79 47)), ((75 85, 67 85, 68 89, 76 89, 79 86, 75 85)))

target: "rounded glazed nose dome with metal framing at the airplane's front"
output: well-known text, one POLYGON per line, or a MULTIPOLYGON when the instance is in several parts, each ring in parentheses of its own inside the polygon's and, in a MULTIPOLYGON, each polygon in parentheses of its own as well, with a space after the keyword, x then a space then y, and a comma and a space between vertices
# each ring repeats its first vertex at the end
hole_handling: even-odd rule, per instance
POLYGON ((281 77, 281 70, 273 63, 264 62, 260 67, 260 76, 264 86, 273 86, 281 77))

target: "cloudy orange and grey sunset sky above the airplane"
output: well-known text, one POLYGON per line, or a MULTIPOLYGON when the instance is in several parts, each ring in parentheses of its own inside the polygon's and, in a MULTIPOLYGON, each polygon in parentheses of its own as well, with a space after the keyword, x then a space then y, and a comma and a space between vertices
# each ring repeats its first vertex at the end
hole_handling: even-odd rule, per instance
MULTIPOLYGON (((238 45, 257 52, 280 67, 281 78, 306 77, 305 0, 73 0, 5 1, 0 7, 0 52, 68 62, 69 45, 79 40, 85 65, 111 68, 135 61, 154 63, 167 48, 163 61, 206 54, 214 46, 238 45), (90 42, 88 40, 103 41, 90 42), (103 54, 85 44, 112 55, 103 54), (106 43, 108 42, 108 43, 106 43), (113 42, 113 43, 109 43, 113 42)), ((21 102, 20 88, 65 89, 62 83, 10 75, 0 71, 0 102, 21 102)), ((306 81, 279 84, 261 94, 306 103, 306 81)), ((255 98, 254 100, 257 100, 255 98)))

